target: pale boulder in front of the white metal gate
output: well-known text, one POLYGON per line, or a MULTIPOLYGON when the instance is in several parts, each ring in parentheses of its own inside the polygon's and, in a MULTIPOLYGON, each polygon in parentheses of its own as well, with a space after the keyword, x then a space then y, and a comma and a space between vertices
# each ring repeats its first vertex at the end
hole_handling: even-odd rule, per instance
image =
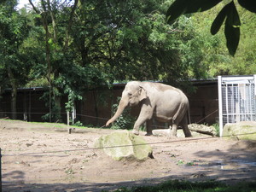
POLYGON ((242 121, 236 124, 226 124, 223 129, 223 137, 238 140, 256 140, 256 122, 242 121))

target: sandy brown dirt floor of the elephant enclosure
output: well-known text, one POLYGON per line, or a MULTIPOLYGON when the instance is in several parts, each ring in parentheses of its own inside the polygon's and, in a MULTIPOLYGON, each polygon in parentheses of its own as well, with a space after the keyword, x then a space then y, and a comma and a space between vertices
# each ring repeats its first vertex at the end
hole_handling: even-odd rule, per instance
POLYGON ((54 124, 0 120, 3 191, 101 191, 164 182, 256 181, 256 143, 218 137, 141 136, 154 159, 115 161, 94 148, 108 129, 71 134, 54 124))

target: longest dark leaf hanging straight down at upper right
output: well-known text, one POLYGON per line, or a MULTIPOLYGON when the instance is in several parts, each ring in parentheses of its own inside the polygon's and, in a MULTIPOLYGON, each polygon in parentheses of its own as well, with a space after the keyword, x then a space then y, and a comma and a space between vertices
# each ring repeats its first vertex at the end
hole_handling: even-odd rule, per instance
POLYGON ((227 40, 227 47, 229 49, 230 55, 234 56, 239 44, 241 21, 237 13, 235 3, 231 2, 228 5, 229 13, 225 21, 224 34, 227 40))

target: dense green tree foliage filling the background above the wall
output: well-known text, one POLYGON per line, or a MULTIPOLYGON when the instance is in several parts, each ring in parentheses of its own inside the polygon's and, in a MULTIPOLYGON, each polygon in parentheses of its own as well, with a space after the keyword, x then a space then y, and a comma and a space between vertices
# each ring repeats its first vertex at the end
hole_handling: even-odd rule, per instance
POLYGON ((215 11, 225 4, 201 15, 182 15, 169 25, 166 11, 173 2, 28 0, 25 8, 17 9, 17 0, 1 1, 0 82, 2 91, 13 90, 12 110, 21 86, 46 86, 46 104, 52 113, 59 113, 61 96, 68 96, 67 109, 72 110, 86 90, 113 82, 176 84, 256 73, 256 44, 251 38, 256 32, 255 14, 238 9, 246 25, 241 25, 241 43, 232 57, 223 34, 209 32, 215 11))

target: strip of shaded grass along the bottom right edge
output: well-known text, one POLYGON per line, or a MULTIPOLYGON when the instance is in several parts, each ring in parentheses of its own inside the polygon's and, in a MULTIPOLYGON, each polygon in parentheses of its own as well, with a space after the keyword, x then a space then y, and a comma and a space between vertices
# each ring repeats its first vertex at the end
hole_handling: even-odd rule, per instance
POLYGON ((154 186, 120 188, 115 192, 255 192, 256 182, 243 182, 236 185, 226 185, 216 181, 189 182, 168 181, 154 186))

